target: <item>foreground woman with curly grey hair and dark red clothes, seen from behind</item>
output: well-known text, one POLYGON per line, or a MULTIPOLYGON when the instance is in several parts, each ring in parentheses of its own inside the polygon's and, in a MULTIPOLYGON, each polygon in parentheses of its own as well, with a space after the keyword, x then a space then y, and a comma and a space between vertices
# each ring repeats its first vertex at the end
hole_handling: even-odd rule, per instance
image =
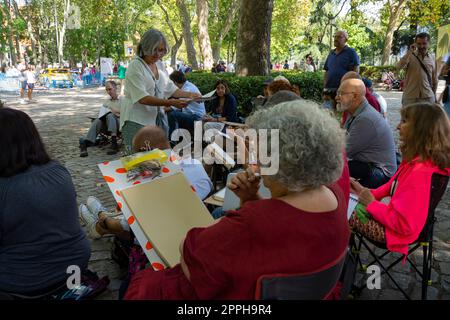
POLYGON ((238 174, 230 188, 241 209, 191 229, 180 264, 137 273, 126 299, 253 299, 262 275, 308 274, 342 261, 349 176, 339 123, 314 102, 296 100, 256 111, 248 125, 279 130, 279 170, 261 170, 272 198, 259 198, 250 169, 238 174))

